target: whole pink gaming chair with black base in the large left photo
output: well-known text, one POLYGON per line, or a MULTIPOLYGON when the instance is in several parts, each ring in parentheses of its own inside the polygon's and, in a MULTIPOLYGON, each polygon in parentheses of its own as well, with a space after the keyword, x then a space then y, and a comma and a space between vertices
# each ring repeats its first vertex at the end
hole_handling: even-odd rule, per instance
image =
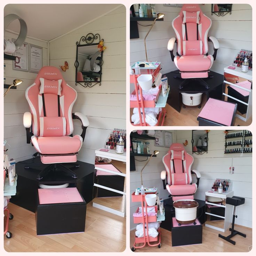
POLYGON ((89 126, 85 115, 72 113, 77 92, 65 82, 59 69, 45 66, 39 71, 35 82, 26 89, 25 96, 30 107, 30 112, 24 113, 23 117, 27 143, 32 142, 42 163, 50 164, 37 178, 43 178, 51 169, 58 167, 77 178, 71 169, 61 164, 77 161, 89 126), (81 136, 72 135, 72 119, 81 121, 81 136))

